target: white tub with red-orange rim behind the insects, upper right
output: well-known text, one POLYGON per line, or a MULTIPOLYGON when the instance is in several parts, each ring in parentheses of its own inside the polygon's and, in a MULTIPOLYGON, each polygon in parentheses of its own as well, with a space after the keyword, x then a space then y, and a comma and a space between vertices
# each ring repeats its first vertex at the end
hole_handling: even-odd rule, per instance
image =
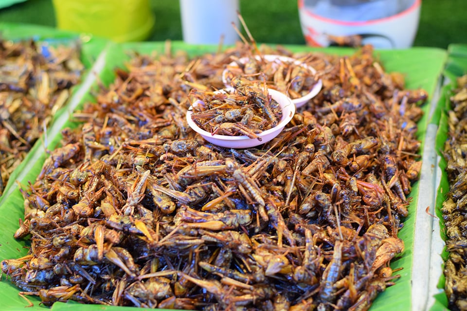
POLYGON ((360 35, 375 48, 410 48, 421 0, 298 0, 300 24, 310 46, 327 47, 331 36, 360 35))

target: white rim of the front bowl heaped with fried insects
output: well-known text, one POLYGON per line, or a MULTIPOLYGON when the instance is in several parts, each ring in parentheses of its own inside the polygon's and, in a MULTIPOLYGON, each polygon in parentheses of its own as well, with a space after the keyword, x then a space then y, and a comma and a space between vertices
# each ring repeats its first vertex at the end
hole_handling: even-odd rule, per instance
MULTIPOLYGON (((228 87, 228 88, 224 88, 224 89, 221 89, 219 91, 216 91, 216 92, 221 92, 221 91, 232 91, 234 90, 233 87, 228 87)), ((291 99, 289 97, 287 97, 285 94, 275 90, 275 89, 271 89, 271 88, 268 88, 268 92, 269 92, 269 95, 271 95, 271 97, 273 99, 277 98, 278 96, 279 97, 285 97, 287 98, 288 100, 288 104, 284 105, 282 107, 282 119, 281 121, 274 127, 266 130, 266 131, 263 131, 261 132, 260 134, 258 134, 258 137, 264 137, 264 136, 267 136, 275 131, 278 131, 278 135, 279 133, 282 131, 282 129, 287 125, 288 122, 290 122, 295 114, 295 104, 292 103, 291 99), (286 115, 284 113, 284 110, 287 109, 288 111, 288 115, 286 115)), ((191 118, 193 114, 193 110, 192 110, 192 105, 190 105, 190 108, 188 109, 188 111, 186 112, 186 121, 188 122, 188 125, 195 131, 197 132, 199 135, 201 136, 207 136, 209 138, 214 138, 214 139, 218 139, 218 140, 229 140, 229 141, 239 141, 239 140, 257 140, 256 138, 249 138, 248 136, 246 135, 239 135, 239 136, 230 136, 230 135, 219 135, 219 134, 211 134, 210 132, 206 131, 206 130, 203 130, 202 128, 200 128, 198 126, 198 124, 195 123, 195 121, 193 121, 193 119, 191 118)), ((259 140, 258 140, 259 141, 259 140)), ((266 142, 261 142, 260 141, 260 144, 262 143, 266 143, 266 142)))

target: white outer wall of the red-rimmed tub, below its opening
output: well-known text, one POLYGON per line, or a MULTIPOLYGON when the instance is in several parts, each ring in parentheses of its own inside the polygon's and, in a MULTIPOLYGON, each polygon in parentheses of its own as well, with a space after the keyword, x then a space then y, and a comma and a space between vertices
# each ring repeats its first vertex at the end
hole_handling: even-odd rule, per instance
POLYGON ((305 41, 310 46, 331 45, 332 40, 328 35, 360 35, 362 44, 371 44, 381 49, 405 49, 412 46, 417 33, 421 0, 399 1, 403 7, 397 14, 358 21, 344 20, 345 17, 339 18, 338 13, 335 13, 333 18, 319 15, 307 5, 308 2, 316 1, 298 0, 298 11, 305 41))

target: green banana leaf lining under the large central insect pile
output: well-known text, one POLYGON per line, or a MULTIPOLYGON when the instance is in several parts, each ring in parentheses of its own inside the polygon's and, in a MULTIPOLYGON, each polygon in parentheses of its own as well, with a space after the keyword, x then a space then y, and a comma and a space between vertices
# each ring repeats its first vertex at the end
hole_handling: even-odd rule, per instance
MULTIPOLYGON (((108 85, 113 81, 115 74, 114 69, 122 68, 125 62, 130 59, 128 52, 137 51, 142 54, 149 53, 162 53, 164 51, 164 42, 145 42, 145 43, 126 43, 126 44, 113 44, 108 43, 107 46, 97 57, 94 63, 92 72, 98 75, 98 80, 108 85)), ((286 46, 293 51, 310 51, 309 47, 305 46, 286 46)), ((172 42, 172 51, 184 50, 190 55, 196 55, 204 52, 215 52, 216 46, 193 46, 187 45, 183 42, 172 42)), ((326 48, 320 49, 320 52, 333 53, 333 54, 350 54, 354 50, 340 49, 340 48, 326 48)), ((95 51, 94 51, 95 52, 95 51)), ((380 50, 375 52, 384 68, 387 71, 399 71, 405 73, 406 84, 408 88, 422 87, 426 89, 431 96, 433 96, 435 89, 438 85, 438 77, 444 67, 446 59, 446 51, 432 48, 413 48, 408 50, 380 50)), ((97 86, 95 83, 92 87, 97 86)), ((76 108, 79 109, 82 104, 87 101, 94 101, 92 95, 88 92, 80 98, 76 98, 76 108)), ((424 139, 428 125, 428 112, 430 105, 423 106, 426 116, 419 122, 418 137, 424 139)), ((62 118, 66 116, 63 115, 62 118)), ((64 126, 77 126, 76 123, 67 120, 64 126)), ((61 136, 59 131, 51 139, 49 146, 58 144, 61 136)), ((28 181, 34 181, 36 176, 41 170, 42 164, 46 158, 46 154, 38 154, 34 160, 33 165, 24 178, 21 184, 26 185, 28 181)), ((389 287, 386 291, 378 294, 377 299, 371 307, 371 311, 382 310, 411 310, 411 277, 413 269, 413 237, 415 232, 415 208, 418 201, 418 183, 413 185, 411 193, 412 201, 409 207, 409 216, 405 219, 404 227, 401 229, 399 237, 404 240, 405 250, 391 265, 393 269, 402 268, 398 273, 400 279, 395 282, 394 286, 389 287)), ((0 218, 0 227, 3 228, 0 238, 0 260, 12 259, 24 256, 27 254, 28 242, 17 241, 13 238, 13 233, 18 228, 18 219, 23 216, 23 200, 18 189, 14 190, 0 206, 0 213, 3 217, 0 218)), ((427 232, 431 234, 431 232, 427 232)), ((18 295, 19 290, 13 286, 9 280, 3 279, 0 281, 0 299, 5 310, 24 310, 28 304, 26 300, 18 295)), ((28 310, 42 310, 43 307, 39 306, 39 299, 30 297, 34 303, 34 307, 28 310)), ((125 311, 128 307, 110 307, 102 305, 81 305, 75 302, 68 303, 55 303, 52 307, 54 311, 125 311)), ((132 308, 132 310, 135 310, 132 308)))

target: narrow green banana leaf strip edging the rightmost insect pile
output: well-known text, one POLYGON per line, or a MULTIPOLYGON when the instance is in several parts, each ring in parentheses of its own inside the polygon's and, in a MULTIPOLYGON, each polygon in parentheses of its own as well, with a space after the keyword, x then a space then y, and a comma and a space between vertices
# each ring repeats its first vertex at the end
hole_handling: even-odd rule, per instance
MULTIPOLYGON (((439 127, 436 133, 436 152, 440 156, 439 168, 441 171, 441 179, 436 194, 436 208, 435 213, 439 219, 441 232, 434 233, 441 236, 442 241, 446 241, 447 236, 444 231, 445 224, 443 221, 443 214, 441 207, 443 202, 447 199, 446 194, 449 191, 449 180, 446 174, 447 161, 443 157, 444 143, 448 138, 448 111, 451 109, 451 103, 449 97, 453 94, 453 90, 457 87, 456 78, 467 73, 467 45, 462 44, 451 44, 448 47, 448 59, 446 61, 446 67, 443 72, 445 81, 447 82, 442 90, 441 96, 437 103, 436 110, 439 113, 439 127)), ((446 250, 440 254, 443 262, 448 259, 448 252, 446 250)), ((437 288, 441 290, 441 293, 434 296, 434 304, 430 307, 430 311, 442 311, 448 310, 448 297, 444 292, 445 277, 440 276, 437 288)))

